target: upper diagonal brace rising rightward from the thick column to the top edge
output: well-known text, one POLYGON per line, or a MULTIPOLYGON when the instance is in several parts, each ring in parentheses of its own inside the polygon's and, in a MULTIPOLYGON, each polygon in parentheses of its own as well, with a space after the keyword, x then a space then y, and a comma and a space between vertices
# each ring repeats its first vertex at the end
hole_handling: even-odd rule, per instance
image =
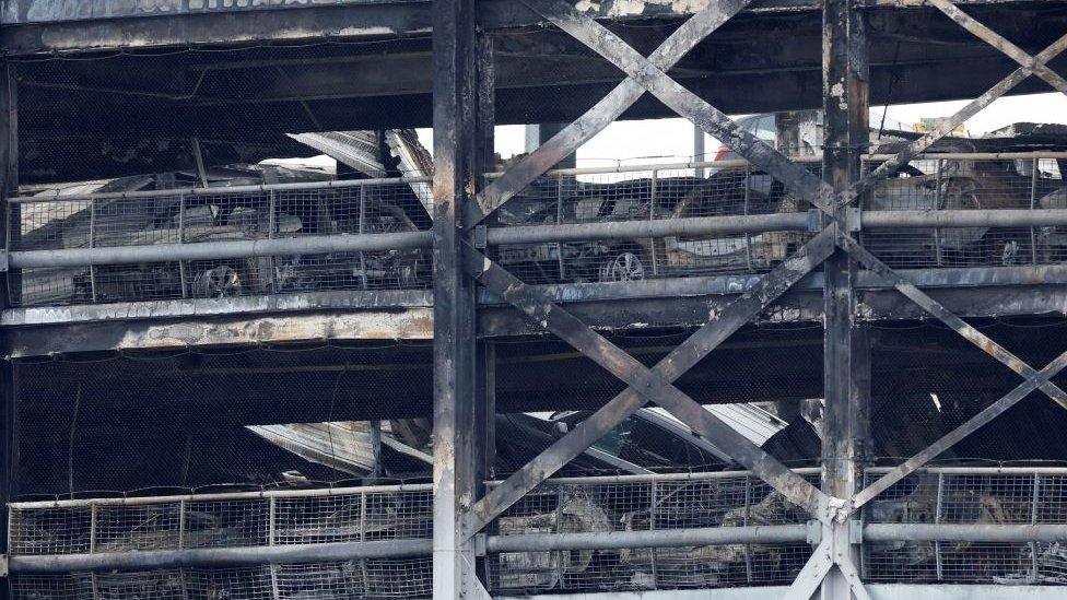
MULTIPOLYGON (((750 1, 724 0, 710 3, 660 44, 649 56, 649 60, 659 69, 670 69, 750 1)), ((477 201, 471 202, 467 209, 464 224, 472 227, 480 223, 544 172, 574 154, 578 146, 622 116, 642 95, 644 89, 633 79, 626 78, 577 120, 479 192, 477 201)))

